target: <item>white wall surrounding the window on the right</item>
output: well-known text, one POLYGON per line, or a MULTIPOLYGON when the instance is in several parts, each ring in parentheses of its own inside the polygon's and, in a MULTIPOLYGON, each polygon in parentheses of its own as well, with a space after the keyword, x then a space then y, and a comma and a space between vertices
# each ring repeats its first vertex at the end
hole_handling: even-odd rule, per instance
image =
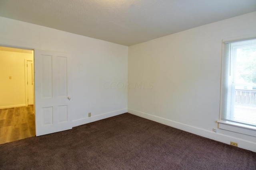
POLYGON ((222 39, 249 34, 256 34, 256 12, 130 46, 128 112, 256 152, 256 137, 212 131, 219 119, 222 39))

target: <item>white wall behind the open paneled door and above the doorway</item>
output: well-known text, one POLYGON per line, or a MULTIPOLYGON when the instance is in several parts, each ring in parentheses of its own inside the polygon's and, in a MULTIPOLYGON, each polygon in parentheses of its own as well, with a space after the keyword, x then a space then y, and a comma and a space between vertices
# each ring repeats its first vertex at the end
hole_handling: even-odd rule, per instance
POLYGON ((73 126, 127 112, 127 89, 105 89, 104 82, 127 82, 128 47, 3 17, 0 25, 2 46, 72 57, 73 126))

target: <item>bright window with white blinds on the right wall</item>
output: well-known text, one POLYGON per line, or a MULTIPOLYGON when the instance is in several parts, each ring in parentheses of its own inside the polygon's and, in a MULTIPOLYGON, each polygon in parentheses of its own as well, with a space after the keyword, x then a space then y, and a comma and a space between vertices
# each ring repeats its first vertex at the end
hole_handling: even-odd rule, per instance
POLYGON ((221 119, 256 127, 256 39, 226 42, 222 57, 221 119))

